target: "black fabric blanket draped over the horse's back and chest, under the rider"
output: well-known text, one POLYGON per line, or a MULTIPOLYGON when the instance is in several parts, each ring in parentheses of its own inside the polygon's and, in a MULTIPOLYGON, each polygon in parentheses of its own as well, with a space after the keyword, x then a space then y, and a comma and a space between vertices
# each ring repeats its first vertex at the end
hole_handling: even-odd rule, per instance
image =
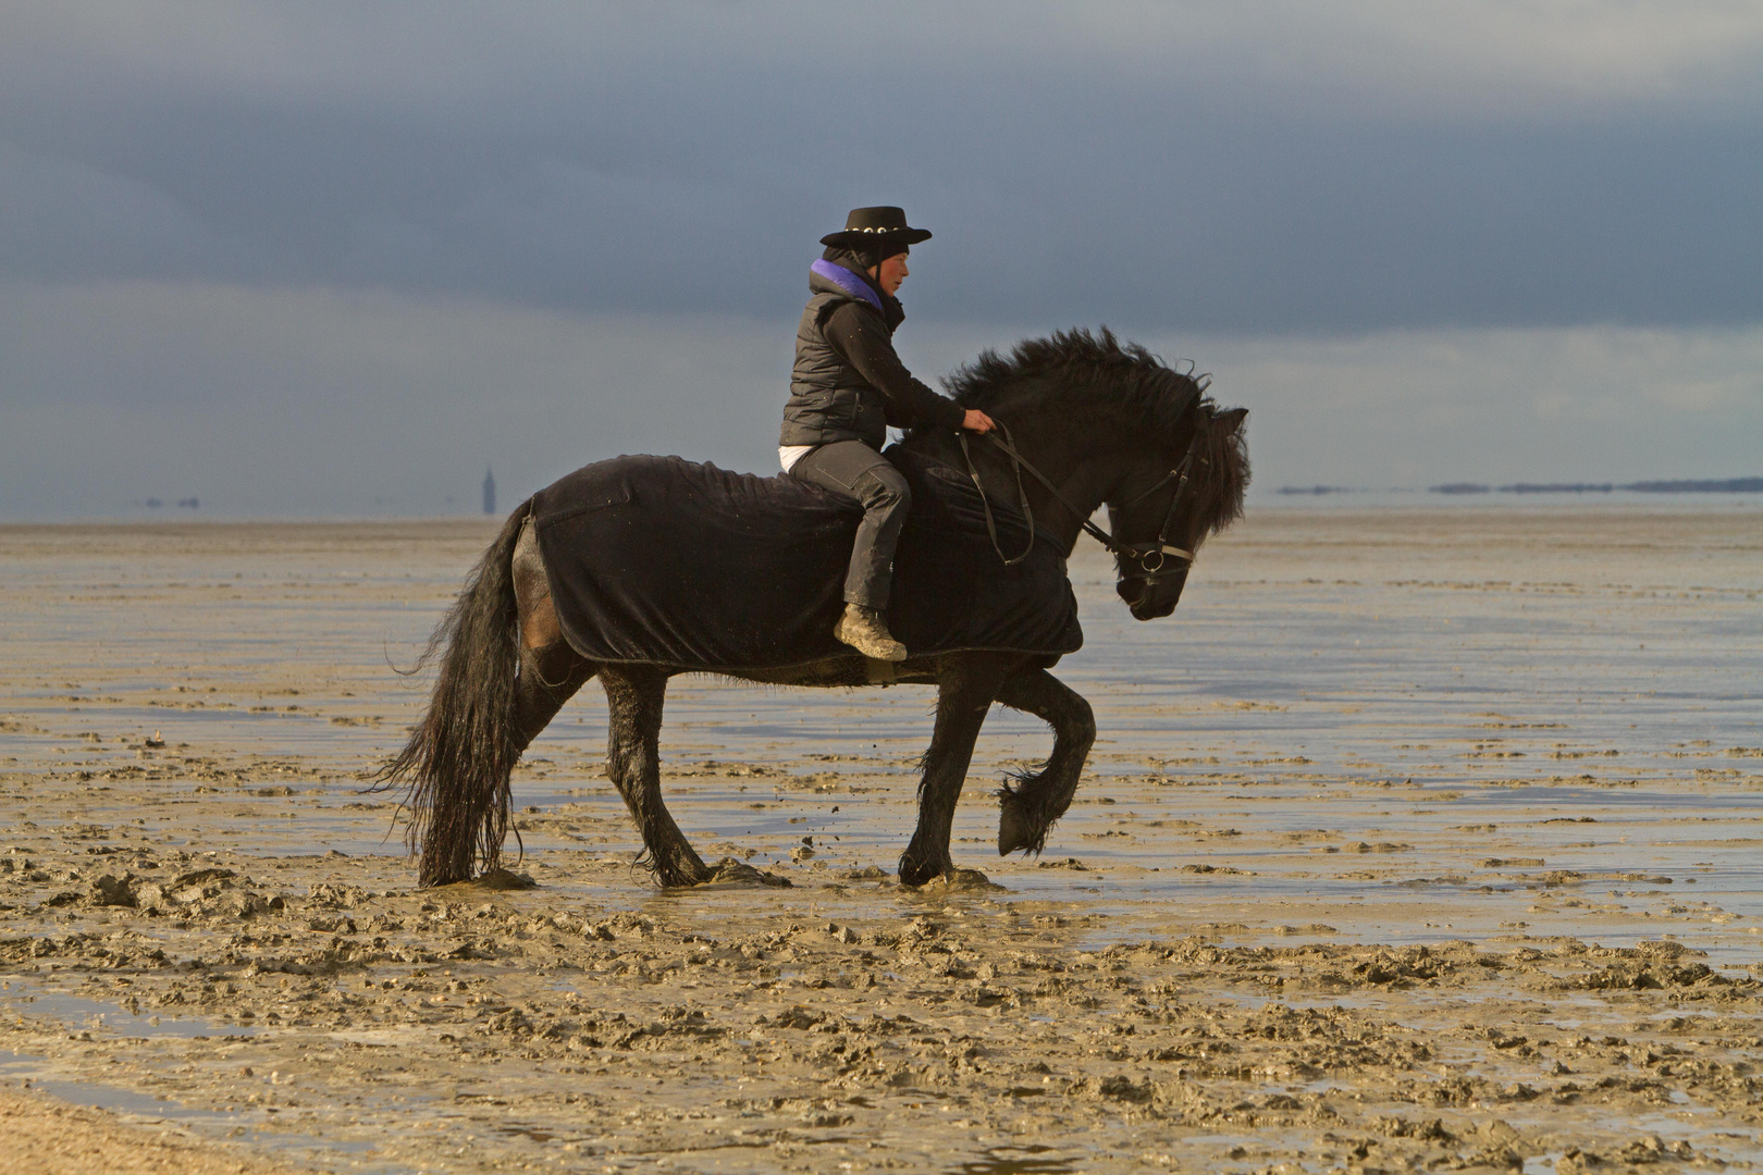
MULTIPOLYGON (((889 451, 911 486, 889 627, 913 655, 1068 654, 1077 601, 1054 539, 1005 567, 966 474, 889 451)), ((1030 530, 993 504, 1015 555, 1030 530)), ((862 507, 795 477, 621 456, 539 490, 532 520, 569 647, 589 661, 777 669, 850 657, 832 639, 862 507)))

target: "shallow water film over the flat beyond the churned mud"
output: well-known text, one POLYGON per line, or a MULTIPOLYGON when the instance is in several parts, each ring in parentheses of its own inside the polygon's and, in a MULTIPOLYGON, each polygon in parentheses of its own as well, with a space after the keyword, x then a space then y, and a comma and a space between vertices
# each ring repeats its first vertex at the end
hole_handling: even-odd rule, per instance
MULTIPOLYGON (((287 763, 293 794, 227 794, 234 821, 197 840, 397 854, 388 798, 360 791, 423 701, 388 662, 416 659, 488 534, 0 530, 0 625, 30 666, 9 682, 19 722, 0 738, 12 756, 78 770, 69 733, 90 729, 102 740, 92 770, 159 731, 164 750, 132 754, 167 782, 180 765, 162 759, 180 743, 259 775, 287 763)), ((957 821, 961 860, 1008 890, 1118 914, 1111 935, 1132 934, 1135 909, 1160 918, 1202 888, 1259 914, 1250 927, 1271 900, 1280 925, 1386 941, 1521 921, 1532 934, 1594 925, 1613 942, 1680 934, 1733 960, 1754 950, 1738 935, 1763 918, 1763 511, 1259 511, 1208 544, 1176 615, 1151 624, 1114 601, 1111 564, 1088 541, 1072 580, 1086 647, 1056 673, 1095 706, 1091 779, 1042 861, 1000 861, 987 793, 1049 736, 996 706, 957 821), (1331 844, 1343 851, 1319 851, 1331 844), (1065 858, 1088 872, 1037 867, 1065 858), (1537 888, 1550 870, 1587 881, 1537 888), (1622 874, 1673 884, 1610 881, 1622 874), (1416 923, 1423 891, 1453 914, 1416 923)), ((758 863, 786 863, 813 837, 823 865, 890 868, 933 703, 929 687, 677 678, 663 731, 675 812, 700 842, 758 863)), ((529 860, 638 847, 599 775, 603 747, 591 685, 517 779, 517 805, 541 817, 524 821, 529 860), (577 831, 552 835, 552 816, 577 831)), ((92 819, 132 810, 109 786, 92 791, 92 819)), ((212 847, 160 823, 166 844, 212 847)))

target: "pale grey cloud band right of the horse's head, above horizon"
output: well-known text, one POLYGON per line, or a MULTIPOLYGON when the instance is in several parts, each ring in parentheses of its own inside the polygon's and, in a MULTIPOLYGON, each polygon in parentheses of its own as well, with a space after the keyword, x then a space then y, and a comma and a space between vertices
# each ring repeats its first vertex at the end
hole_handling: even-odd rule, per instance
POLYGON ((1756 328, 1185 344, 1224 373, 1220 395, 1252 405, 1262 500, 1280 484, 1735 477, 1763 435, 1756 328))

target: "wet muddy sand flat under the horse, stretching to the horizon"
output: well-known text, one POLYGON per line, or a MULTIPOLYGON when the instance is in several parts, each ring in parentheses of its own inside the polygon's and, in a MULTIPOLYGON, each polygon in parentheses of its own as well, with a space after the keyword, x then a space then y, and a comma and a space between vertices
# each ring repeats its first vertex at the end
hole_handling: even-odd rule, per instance
POLYGON ((0 1080, 249 1170, 1763 1159, 1758 511, 1259 511, 1151 625, 1086 550, 1090 779, 998 860, 994 710, 984 884, 890 877, 929 691, 684 678, 677 819, 793 884, 656 891, 589 685, 538 888, 418 891, 360 775, 490 532, 0 528, 0 1080))

